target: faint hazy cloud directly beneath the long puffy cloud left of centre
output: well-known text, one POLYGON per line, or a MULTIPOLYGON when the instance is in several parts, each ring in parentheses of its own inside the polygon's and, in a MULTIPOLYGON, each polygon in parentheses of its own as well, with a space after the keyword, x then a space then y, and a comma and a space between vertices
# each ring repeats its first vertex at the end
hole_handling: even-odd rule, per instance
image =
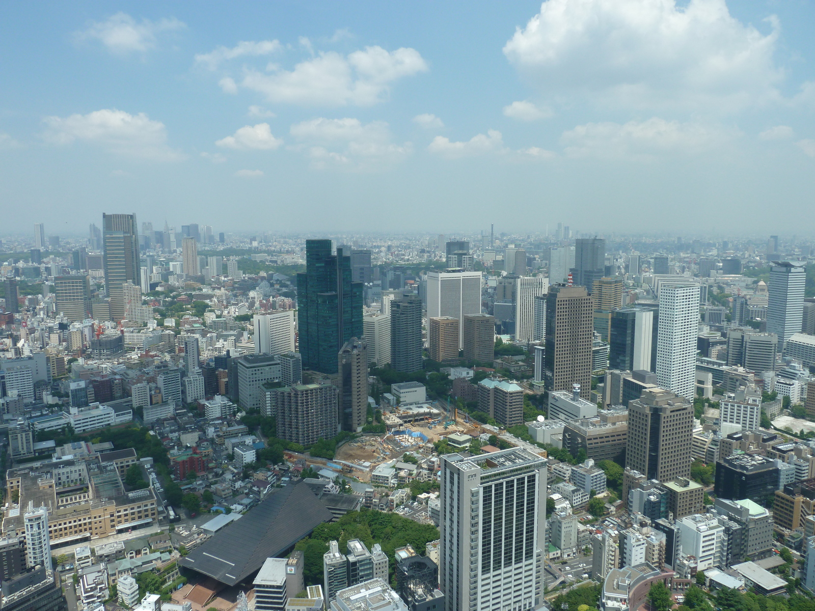
POLYGON ((384 121, 363 125, 359 119, 320 117, 292 125, 289 132, 316 167, 328 164, 348 169, 377 169, 402 160, 412 152, 411 143, 391 141, 384 121))

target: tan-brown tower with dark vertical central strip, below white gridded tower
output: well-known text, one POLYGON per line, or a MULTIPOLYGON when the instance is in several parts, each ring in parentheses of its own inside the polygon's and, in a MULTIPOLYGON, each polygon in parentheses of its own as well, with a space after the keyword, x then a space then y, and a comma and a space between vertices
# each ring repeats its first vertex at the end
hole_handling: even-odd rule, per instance
POLYGON ((625 466, 650 480, 690 477, 693 436, 692 402, 665 389, 645 389, 628 402, 625 466))

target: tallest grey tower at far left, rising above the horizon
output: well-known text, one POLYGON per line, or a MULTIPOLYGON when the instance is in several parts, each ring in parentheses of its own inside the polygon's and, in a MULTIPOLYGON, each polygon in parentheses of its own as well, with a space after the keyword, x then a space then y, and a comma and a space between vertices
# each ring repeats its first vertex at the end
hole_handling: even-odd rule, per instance
POLYGON ((128 280, 139 285, 139 233, 135 214, 102 214, 105 291, 110 298, 113 320, 125 318, 121 285, 128 280))

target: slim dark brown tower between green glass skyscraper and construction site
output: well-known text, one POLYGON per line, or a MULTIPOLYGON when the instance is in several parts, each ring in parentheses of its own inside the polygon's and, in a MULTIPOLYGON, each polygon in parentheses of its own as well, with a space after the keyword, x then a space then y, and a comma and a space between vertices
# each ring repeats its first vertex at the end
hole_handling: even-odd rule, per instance
POLYGON ((337 355, 341 429, 359 433, 368 416, 368 341, 351 337, 337 355))

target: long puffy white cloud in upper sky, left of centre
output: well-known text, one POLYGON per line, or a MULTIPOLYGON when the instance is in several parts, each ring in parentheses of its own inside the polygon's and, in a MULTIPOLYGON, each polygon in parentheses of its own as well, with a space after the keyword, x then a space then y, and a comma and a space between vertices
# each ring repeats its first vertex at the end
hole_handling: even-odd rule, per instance
POLYGON ((367 46, 347 56, 320 52, 291 71, 276 65, 267 69, 271 74, 247 70, 241 85, 276 103, 372 106, 385 99, 392 83, 428 68, 415 49, 367 46))

